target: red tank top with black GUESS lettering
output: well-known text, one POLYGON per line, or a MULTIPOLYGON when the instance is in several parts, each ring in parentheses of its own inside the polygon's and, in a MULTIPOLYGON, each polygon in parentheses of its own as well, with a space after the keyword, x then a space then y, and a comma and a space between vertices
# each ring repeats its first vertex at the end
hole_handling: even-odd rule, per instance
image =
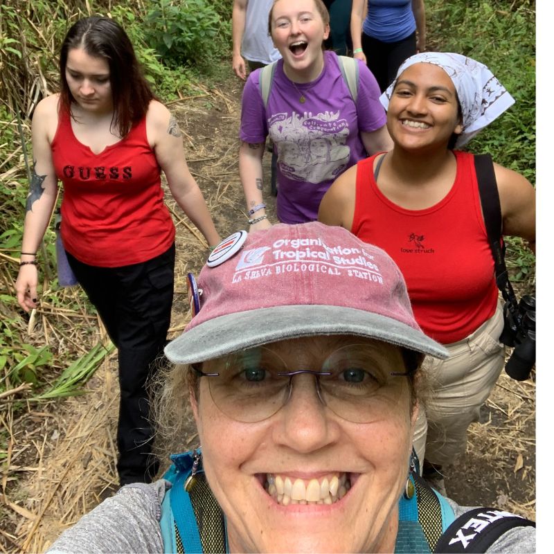
POLYGON ((60 110, 59 119, 51 149, 64 185, 64 248, 99 267, 145 262, 165 252, 175 239, 175 225, 163 203, 146 119, 100 154, 76 139, 66 111, 60 110))

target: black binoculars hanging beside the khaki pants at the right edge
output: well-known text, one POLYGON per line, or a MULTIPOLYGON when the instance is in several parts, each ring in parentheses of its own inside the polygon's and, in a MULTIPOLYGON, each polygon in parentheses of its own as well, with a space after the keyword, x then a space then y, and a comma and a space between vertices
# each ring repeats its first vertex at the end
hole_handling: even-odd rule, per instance
POLYGON ((536 304, 535 296, 526 294, 517 305, 510 301, 504 305, 504 328, 499 340, 514 347, 505 369, 517 381, 527 379, 535 365, 536 304))

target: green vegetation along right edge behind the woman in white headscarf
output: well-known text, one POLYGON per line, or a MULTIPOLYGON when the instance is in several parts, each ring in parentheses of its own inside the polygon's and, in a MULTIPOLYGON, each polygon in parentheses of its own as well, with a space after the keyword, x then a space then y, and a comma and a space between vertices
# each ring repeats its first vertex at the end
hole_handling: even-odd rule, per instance
MULTIPOLYGON (((535 2, 531 0, 427 0, 429 50, 457 52, 483 62, 515 105, 476 136, 471 152, 535 184, 535 2)), ((508 238, 510 277, 535 285, 535 256, 519 238, 508 238)))

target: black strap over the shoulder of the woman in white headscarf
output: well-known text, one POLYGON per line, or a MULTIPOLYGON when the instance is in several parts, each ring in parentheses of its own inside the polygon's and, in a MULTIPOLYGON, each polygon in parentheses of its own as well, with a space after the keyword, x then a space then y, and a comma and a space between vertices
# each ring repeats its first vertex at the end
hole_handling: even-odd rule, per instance
MULTIPOLYGON (((506 244, 502 240, 502 211, 498 194, 497 178, 494 176, 494 166, 490 154, 474 155, 475 173, 479 184, 481 208, 489 239, 490 250, 494 260, 494 273, 497 287, 508 305, 508 309, 517 311, 517 298, 512 283, 508 277, 508 269, 504 261, 506 244)), ((515 314, 515 313, 514 313, 515 314)))

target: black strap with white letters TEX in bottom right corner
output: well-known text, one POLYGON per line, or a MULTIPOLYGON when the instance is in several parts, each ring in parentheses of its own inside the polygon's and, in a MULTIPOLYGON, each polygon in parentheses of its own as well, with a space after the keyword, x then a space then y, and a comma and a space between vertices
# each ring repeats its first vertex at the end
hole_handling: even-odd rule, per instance
POLYGON ((495 508, 475 508, 450 524, 438 539, 434 552, 483 553, 506 531, 526 526, 535 527, 535 521, 495 508))

